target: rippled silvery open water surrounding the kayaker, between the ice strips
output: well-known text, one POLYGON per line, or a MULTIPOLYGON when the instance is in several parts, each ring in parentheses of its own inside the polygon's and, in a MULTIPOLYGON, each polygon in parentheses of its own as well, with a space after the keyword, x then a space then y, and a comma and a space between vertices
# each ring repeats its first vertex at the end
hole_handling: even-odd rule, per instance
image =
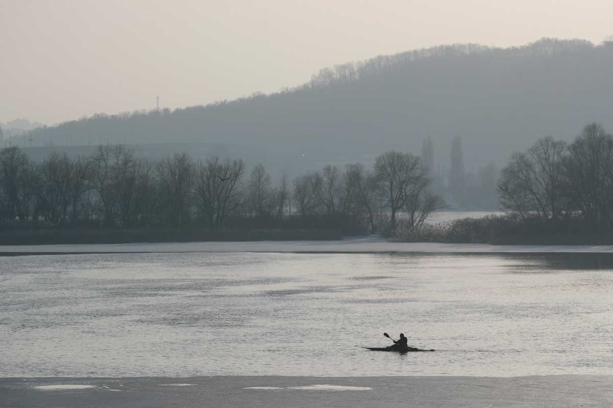
POLYGON ((607 254, 0 258, 0 376, 613 374, 612 294, 607 254))

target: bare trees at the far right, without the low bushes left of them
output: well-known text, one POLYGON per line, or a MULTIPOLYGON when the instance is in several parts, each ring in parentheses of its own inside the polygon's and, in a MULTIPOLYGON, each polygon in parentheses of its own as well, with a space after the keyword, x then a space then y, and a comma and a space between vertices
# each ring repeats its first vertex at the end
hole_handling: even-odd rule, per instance
POLYGON ((522 219, 569 223, 585 232, 613 229, 613 136, 585 126, 573 143, 540 139, 512 155, 498 182, 503 209, 522 219))

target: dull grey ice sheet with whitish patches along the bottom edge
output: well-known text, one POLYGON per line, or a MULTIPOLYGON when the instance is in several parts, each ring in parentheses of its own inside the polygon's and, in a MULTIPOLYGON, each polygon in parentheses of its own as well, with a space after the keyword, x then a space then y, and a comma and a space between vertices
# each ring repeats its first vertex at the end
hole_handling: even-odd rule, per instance
POLYGON ((607 407, 613 376, 4 378, 20 407, 607 407))

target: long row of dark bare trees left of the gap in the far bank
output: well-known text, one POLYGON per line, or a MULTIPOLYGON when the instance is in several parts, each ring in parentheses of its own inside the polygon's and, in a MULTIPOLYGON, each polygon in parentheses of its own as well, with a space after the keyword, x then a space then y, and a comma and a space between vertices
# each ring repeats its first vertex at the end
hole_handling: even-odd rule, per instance
POLYGON ((417 228, 442 199, 430 193, 421 158, 397 151, 273 185, 263 165, 150 160, 123 145, 98 146, 89 157, 51 154, 36 163, 18 147, 0 152, 0 218, 4 226, 72 229, 224 228, 336 229, 390 232, 397 213, 417 228))

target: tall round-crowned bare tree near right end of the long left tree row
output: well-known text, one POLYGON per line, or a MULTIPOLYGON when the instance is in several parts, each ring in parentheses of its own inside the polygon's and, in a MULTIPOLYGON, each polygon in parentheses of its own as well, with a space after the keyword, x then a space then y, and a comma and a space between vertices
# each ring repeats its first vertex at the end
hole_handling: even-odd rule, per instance
POLYGON ((391 213, 390 229, 395 232, 396 213, 405 206, 414 185, 424 178, 424 168, 419 157, 392 150, 377 156, 375 174, 378 193, 391 213))

